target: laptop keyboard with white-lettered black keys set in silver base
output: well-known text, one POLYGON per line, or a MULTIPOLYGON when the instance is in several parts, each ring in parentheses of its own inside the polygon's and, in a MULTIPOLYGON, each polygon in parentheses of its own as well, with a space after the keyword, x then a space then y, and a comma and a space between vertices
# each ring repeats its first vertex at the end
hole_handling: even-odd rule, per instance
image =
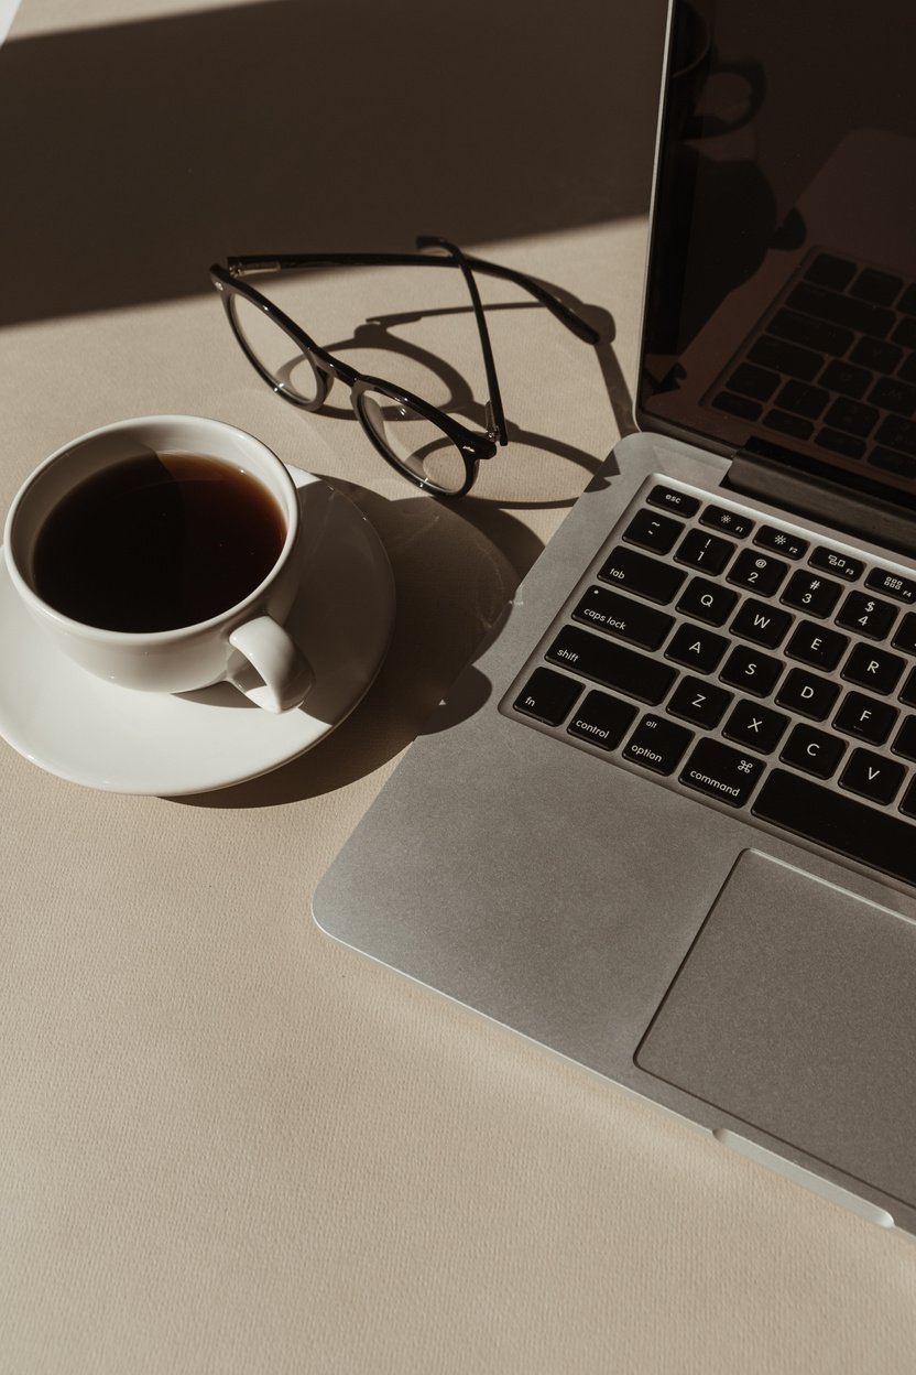
POLYGON ((656 483, 509 698, 916 884, 916 575, 656 483))

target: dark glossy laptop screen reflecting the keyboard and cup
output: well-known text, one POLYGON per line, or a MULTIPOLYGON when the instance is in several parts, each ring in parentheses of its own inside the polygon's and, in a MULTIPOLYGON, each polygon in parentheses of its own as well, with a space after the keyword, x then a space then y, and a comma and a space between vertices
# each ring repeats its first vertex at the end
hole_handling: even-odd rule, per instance
POLYGON ((674 0, 639 415, 916 499, 912 0, 674 0))

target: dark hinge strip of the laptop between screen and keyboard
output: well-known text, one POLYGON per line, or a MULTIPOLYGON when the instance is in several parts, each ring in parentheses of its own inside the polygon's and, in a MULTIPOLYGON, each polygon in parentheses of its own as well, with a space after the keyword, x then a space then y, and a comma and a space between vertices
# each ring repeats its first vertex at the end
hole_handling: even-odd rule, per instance
POLYGON ((911 558, 916 554, 916 512, 909 516, 880 496, 850 494, 820 473, 813 478, 792 472, 787 462, 773 455, 739 451, 722 485, 834 525, 846 535, 884 544, 911 558))

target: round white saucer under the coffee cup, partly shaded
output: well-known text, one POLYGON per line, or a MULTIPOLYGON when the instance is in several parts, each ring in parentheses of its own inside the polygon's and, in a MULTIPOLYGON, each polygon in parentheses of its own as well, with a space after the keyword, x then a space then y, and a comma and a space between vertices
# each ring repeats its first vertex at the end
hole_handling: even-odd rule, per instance
POLYGON ((302 513, 302 591, 288 627, 314 668, 302 707, 272 715, 229 683, 169 696, 93 678, 60 654, 0 561, 0 736, 48 773, 110 792, 209 792, 268 773, 338 726, 382 667, 394 624, 387 554, 357 507, 290 469, 302 513))

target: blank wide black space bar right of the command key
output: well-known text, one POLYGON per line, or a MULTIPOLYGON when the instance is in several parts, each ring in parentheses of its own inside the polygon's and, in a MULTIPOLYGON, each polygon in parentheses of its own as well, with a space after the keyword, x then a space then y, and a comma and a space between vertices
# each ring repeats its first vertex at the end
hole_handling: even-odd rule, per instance
POLYGON ((916 883, 916 828, 887 811, 773 769, 753 813, 880 873, 916 883))

